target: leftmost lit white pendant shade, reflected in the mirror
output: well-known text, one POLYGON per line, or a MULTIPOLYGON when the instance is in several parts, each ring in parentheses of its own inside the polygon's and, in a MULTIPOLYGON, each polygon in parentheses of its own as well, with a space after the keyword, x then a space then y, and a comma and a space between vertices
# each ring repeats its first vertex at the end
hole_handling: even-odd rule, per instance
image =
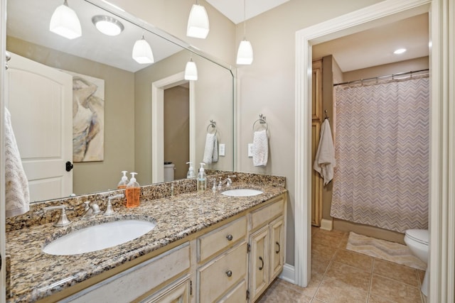
POLYGON ((80 21, 73 9, 65 0, 62 5, 55 9, 50 18, 49 31, 68 39, 74 39, 82 35, 80 21))

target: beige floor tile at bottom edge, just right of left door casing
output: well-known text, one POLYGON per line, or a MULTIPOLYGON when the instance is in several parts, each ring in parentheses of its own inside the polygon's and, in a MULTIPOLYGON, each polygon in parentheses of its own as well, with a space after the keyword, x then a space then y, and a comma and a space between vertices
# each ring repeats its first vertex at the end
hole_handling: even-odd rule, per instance
POLYGON ((316 299, 327 303, 367 302, 370 273, 333 262, 323 277, 316 299))

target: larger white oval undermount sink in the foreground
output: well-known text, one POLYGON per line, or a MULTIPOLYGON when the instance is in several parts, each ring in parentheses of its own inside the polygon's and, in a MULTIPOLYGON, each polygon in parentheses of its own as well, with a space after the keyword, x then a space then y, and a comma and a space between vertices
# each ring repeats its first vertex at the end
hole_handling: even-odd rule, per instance
POLYGON ((56 238, 43 248, 50 255, 77 255, 117 246, 148 233, 156 226, 154 221, 122 220, 105 222, 72 231, 56 238))

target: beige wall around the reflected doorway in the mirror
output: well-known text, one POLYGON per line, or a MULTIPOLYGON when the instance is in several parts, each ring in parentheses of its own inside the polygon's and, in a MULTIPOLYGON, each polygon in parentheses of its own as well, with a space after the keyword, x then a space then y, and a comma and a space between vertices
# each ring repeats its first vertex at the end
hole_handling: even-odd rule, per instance
MULTIPOLYGON (((151 183, 151 84, 185 70, 189 60, 188 51, 154 63, 135 74, 135 167, 141 176, 141 184, 151 183)), ((226 155, 217 163, 206 165, 208 169, 232 170, 232 75, 224 67, 193 55, 198 67, 198 80, 195 82, 195 127, 196 127, 196 163, 203 159, 205 136, 210 119, 217 122, 219 143, 225 143, 226 155)))

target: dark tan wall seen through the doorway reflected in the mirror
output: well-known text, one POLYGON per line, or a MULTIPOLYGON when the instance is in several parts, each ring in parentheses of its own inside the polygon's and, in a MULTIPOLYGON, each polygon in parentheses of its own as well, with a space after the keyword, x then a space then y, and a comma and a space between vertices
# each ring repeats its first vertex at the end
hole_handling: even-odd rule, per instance
POLYGON ((164 90, 164 161, 176 165, 174 179, 186 178, 190 158, 190 90, 181 85, 164 90))

